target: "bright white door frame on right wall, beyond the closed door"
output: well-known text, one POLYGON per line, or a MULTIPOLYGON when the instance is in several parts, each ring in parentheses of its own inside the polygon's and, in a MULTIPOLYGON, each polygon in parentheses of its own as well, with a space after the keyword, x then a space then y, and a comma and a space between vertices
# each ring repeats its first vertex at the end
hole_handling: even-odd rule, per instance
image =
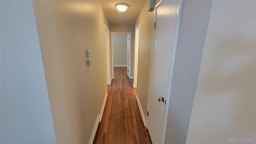
POLYGON ((133 72, 133 87, 137 88, 138 78, 138 56, 139 56, 139 44, 140 44, 140 24, 135 28, 135 43, 134 43, 134 72, 133 72), (138 34, 138 35, 137 35, 138 34))

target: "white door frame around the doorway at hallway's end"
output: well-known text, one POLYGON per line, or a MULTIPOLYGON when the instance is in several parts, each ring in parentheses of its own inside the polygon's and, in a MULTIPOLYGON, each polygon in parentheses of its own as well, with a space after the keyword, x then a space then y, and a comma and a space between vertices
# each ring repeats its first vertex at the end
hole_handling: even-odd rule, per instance
POLYGON ((132 32, 111 32, 111 61, 112 61, 112 78, 114 78, 114 52, 113 52, 113 34, 129 34, 129 47, 128 47, 128 59, 127 59, 127 70, 129 70, 128 78, 131 77, 131 37, 132 32))

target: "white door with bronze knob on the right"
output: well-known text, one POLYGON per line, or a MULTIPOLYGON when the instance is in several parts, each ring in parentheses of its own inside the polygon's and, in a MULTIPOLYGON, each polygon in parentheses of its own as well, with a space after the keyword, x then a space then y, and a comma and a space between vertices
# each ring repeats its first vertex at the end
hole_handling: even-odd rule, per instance
POLYGON ((178 6, 177 0, 162 1, 156 6, 147 117, 147 128, 153 144, 164 143, 178 6), (161 97, 164 97, 163 102, 158 101, 161 97))

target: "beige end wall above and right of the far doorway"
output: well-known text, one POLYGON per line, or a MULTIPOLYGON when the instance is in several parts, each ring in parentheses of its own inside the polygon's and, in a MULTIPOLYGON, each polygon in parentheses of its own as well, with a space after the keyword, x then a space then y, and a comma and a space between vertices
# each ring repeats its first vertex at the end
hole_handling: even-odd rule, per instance
POLYGON ((132 45, 131 45, 131 77, 134 73, 134 33, 135 33, 135 24, 110 24, 110 32, 132 32, 132 45))

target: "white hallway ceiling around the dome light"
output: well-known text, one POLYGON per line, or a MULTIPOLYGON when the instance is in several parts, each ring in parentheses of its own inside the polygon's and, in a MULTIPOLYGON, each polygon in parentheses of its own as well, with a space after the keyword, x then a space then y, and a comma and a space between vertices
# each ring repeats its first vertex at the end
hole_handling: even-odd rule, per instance
POLYGON ((133 20, 137 18, 140 9, 146 0, 100 0, 102 8, 110 24, 134 24, 133 20), (119 12, 115 4, 126 3, 130 7, 125 12, 119 12))

